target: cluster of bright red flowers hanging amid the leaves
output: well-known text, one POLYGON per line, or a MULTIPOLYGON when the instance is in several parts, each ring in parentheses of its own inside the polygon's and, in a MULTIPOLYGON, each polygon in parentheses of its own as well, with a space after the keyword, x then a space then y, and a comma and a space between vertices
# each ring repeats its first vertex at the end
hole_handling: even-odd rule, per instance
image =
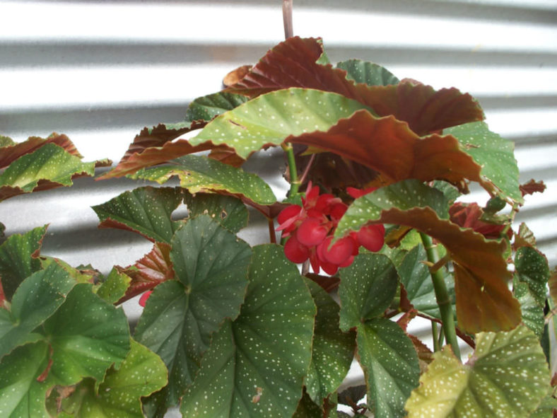
MULTIPOLYGON (((373 189, 348 187, 347 191, 356 198, 373 189)), ((284 245, 284 254, 291 262, 305 262, 309 258, 315 273, 319 273, 321 268, 327 274, 335 274, 339 267, 352 264, 360 246, 370 251, 382 248, 385 240, 385 227, 382 225, 364 226, 332 244, 336 226, 348 209, 339 197, 319 195, 319 187, 312 187, 310 182, 302 203, 301 207, 297 204, 286 207, 277 218, 277 231, 282 231, 283 237, 289 237, 284 245)))

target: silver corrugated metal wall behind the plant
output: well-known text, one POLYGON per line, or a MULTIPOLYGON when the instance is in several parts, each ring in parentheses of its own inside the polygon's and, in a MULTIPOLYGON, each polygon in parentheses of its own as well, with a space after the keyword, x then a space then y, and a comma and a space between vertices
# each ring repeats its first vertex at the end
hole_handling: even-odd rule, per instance
MULTIPOLYGON (((516 143, 523 182, 543 195, 519 214, 557 262, 557 1, 295 0, 294 31, 321 36, 333 61, 358 57, 435 88, 478 98, 491 129, 516 143)), ((0 134, 67 134, 90 161, 118 161, 139 129, 182 120, 193 98, 218 91, 223 74, 283 39, 281 0, 0 1, 0 134)), ((264 155, 281 186, 282 163, 264 155), (271 160, 272 161, 272 160, 271 160)), ((44 252, 107 271, 150 245, 98 230, 90 209, 127 180, 0 204, 7 233, 50 223, 44 252)), ((469 199, 484 199, 474 192, 469 199)), ((257 223, 257 222, 256 222, 257 223)), ((245 232, 263 241, 257 225, 245 232)))

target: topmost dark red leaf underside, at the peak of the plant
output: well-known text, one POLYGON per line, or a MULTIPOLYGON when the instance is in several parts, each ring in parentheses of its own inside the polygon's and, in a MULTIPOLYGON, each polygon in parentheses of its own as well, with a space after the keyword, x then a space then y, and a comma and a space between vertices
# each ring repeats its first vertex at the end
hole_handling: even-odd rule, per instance
POLYGON ((346 79, 346 71, 317 64, 323 53, 319 39, 291 37, 269 50, 251 71, 226 91, 255 97, 281 88, 332 91, 370 106, 380 116, 408 122, 418 135, 483 120, 483 111, 469 94, 456 88, 435 91, 418 81, 368 86, 346 79))

